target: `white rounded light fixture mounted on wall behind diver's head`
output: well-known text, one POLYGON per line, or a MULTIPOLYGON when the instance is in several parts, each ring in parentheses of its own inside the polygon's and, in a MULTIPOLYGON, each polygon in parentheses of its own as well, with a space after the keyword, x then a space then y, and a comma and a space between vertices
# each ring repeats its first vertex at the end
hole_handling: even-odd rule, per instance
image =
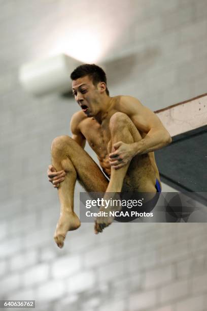
POLYGON ((71 90, 70 74, 82 63, 65 54, 24 64, 19 70, 23 88, 32 95, 42 96, 71 90))

